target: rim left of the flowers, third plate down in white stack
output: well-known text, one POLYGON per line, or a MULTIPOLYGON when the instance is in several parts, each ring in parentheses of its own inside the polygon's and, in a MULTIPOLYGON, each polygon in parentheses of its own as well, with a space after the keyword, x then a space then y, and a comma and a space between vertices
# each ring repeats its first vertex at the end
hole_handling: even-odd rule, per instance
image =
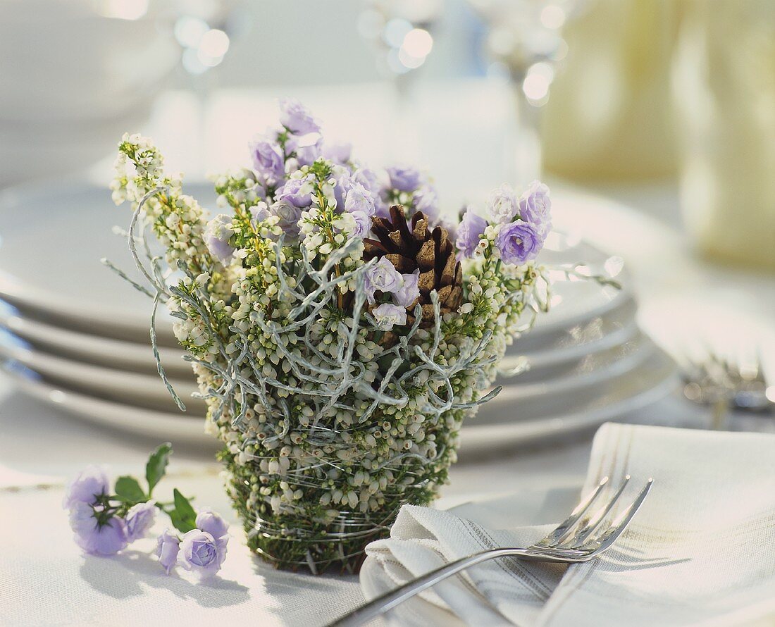
MULTIPOLYGON (((0 332, 0 357, 20 363, 43 375, 47 381, 65 385, 74 391, 160 411, 177 411, 177 405, 158 374, 126 372, 42 353, 32 350, 23 340, 7 331, 0 332)), ((186 405, 187 414, 203 417, 204 401, 191 398, 191 394, 198 391, 194 374, 189 373, 188 379, 184 380, 173 379, 171 383, 186 405)))

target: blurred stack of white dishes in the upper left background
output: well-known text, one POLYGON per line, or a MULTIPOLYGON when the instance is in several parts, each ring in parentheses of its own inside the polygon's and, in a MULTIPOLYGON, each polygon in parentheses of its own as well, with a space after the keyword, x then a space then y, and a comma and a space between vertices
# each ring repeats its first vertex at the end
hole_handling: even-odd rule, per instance
POLYGON ((107 156, 146 119, 178 54, 147 0, 5 0, 0 185, 107 156))

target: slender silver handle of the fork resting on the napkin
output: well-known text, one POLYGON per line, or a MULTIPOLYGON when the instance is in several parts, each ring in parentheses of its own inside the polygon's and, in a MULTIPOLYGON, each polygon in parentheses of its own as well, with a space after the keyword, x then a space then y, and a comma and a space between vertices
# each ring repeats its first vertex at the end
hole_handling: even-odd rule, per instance
POLYGON ((445 580, 453 574, 460 573, 461 570, 487 560, 493 560, 496 557, 515 556, 553 561, 551 556, 543 553, 540 549, 489 549, 480 553, 474 553, 467 557, 461 557, 460 560, 445 564, 443 567, 436 568, 436 570, 431 570, 429 573, 425 573, 402 586, 394 588, 394 590, 381 594, 381 596, 372 599, 368 603, 355 608, 349 614, 330 623, 329 627, 355 627, 355 625, 363 625, 363 623, 384 614, 384 612, 391 610, 408 598, 412 598, 415 594, 438 584, 439 581, 445 580))

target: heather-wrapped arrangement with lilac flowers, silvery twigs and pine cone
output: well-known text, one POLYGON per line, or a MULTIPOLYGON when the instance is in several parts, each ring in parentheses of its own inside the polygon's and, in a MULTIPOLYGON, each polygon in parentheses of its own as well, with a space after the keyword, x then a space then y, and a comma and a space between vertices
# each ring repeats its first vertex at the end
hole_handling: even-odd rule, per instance
POLYGON ((354 570, 401 505, 434 498, 506 346, 546 311, 549 190, 504 186, 453 225, 427 176, 364 167, 294 100, 250 155, 215 178, 226 212, 208 219, 150 140, 123 137, 135 287, 174 316, 250 548, 354 570))

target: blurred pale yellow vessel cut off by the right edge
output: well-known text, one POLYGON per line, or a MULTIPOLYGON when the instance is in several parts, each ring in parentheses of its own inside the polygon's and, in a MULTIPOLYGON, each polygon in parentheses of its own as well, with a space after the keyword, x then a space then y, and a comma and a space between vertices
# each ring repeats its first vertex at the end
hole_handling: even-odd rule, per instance
POLYGON ((673 67, 681 208, 698 250, 775 270, 775 9, 687 0, 673 67))

